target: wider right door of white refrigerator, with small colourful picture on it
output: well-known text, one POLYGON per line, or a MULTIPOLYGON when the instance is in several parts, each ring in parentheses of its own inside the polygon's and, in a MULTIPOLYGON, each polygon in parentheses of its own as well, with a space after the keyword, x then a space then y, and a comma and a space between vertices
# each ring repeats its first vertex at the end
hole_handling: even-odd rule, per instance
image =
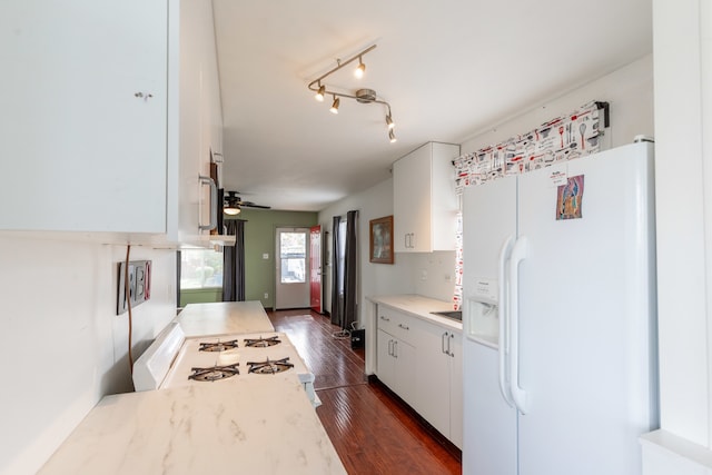
POLYGON ((649 147, 520 178, 518 231, 528 239, 518 283, 528 403, 518 418, 520 475, 641 473, 637 437, 656 424, 649 147), (583 177, 568 202, 557 202, 554 171, 583 177), (581 218, 556 219, 576 208, 581 218))

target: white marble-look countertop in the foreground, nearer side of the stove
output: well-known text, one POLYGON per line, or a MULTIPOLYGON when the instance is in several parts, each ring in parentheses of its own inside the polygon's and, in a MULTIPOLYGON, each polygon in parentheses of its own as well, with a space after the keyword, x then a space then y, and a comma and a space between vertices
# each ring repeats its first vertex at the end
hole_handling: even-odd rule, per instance
POLYGON ((346 474, 295 375, 107 396, 40 474, 346 474))

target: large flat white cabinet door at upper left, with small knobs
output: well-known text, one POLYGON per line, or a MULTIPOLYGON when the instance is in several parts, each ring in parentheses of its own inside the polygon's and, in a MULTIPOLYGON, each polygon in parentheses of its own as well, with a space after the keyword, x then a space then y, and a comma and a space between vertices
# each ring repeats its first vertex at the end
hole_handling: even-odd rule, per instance
POLYGON ((0 228, 166 229, 167 1, 8 0, 0 228))

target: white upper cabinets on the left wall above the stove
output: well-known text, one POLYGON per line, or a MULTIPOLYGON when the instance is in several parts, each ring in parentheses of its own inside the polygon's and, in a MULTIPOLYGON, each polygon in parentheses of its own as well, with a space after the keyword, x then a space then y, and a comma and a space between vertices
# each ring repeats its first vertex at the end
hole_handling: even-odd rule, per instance
POLYGON ((200 240, 221 151, 210 2, 9 0, 0 57, 0 230, 200 240))

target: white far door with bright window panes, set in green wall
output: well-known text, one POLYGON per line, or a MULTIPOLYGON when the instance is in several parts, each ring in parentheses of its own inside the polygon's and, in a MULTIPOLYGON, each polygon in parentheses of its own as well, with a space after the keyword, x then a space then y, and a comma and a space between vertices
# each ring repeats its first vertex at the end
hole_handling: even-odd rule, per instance
POLYGON ((275 308, 309 308, 309 228, 277 228, 275 308))

